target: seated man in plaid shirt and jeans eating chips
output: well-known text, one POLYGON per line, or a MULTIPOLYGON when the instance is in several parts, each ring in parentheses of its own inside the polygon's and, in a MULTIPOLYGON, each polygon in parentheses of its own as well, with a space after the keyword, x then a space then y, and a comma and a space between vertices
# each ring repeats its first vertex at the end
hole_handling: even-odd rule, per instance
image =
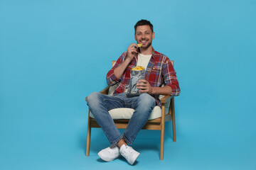
POLYGON ((153 25, 146 20, 141 20, 134 26, 134 38, 137 43, 132 43, 127 52, 122 53, 114 67, 107 73, 107 84, 118 84, 113 96, 92 93, 87 98, 87 105, 95 120, 105 132, 111 146, 102 149, 98 155, 106 162, 122 156, 129 164, 134 164, 139 152, 129 147, 132 145, 139 130, 145 125, 151 111, 156 104, 161 106, 159 95, 178 96, 180 89, 176 72, 171 61, 165 55, 156 52, 152 47, 155 33, 153 25), (146 69, 145 79, 140 79, 137 89, 142 94, 136 97, 127 97, 130 71, 133 67, 143 66, 146 69), (165 86, 162 86, 166 84, 165 86), (121 135, 108 111, 113 108, 134 108, 134 114, 129 120, 127 129, 121 135))

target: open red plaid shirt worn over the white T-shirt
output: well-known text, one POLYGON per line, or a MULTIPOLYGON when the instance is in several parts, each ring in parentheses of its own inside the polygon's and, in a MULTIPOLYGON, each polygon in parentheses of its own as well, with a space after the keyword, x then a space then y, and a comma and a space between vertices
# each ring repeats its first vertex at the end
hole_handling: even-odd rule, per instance
MULTIPOLYGON (((125 57, 127 56, 127 51, 122 53, 117 62, 114 64, 114 67, 110 69, 107 73, 107 84, 113 86, 114 84, 119 83, 117 89, 115 89, 114 94, 124 93, 125 87, 129 85, 130 72, 133 67, 136 67, 138 61, 138 55, 129 63, 127 69, 125 69, 124 74, 120 79, 114 75, 114 69, 117 68, 122 62, 124 62, 125 57)), ((168 57, 165 55, 156 52, 153 49, 152 57, 149 60, 148 67, 146 67, 145 79, 149 81, 149 84, 154 87, 160 87, 162 84, 171 87, 171 96, 178 96, 181 93, 181 90, 178 86, 178 80, 176 77, 176 72, 173 65, 168 57)), ((151 94, 156 99, 158 106, 161 106, 159 95, 151 94)))

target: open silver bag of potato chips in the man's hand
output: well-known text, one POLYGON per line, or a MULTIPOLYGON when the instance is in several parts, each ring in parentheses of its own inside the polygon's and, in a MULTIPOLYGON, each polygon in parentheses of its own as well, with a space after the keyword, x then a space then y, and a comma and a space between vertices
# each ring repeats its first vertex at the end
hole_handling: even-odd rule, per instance
POLYGON ((139 79, 145 79, 145 69, 142 66, 134 67, 131 70, 131 77, 129 81, 127 97, 139 96, 141 93, 137 89, 139 79))

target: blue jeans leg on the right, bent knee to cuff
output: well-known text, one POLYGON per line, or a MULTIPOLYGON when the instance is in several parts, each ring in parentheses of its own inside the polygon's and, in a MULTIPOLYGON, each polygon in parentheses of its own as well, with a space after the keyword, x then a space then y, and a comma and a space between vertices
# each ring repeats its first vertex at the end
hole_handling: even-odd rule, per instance
POLYGON ((126 130, 124 130, 124 140, 132 145, 139 130, 143 128, 149 119, 149 115, 156 106, 155 99, 149 94, 141 94, 137 98, 126 98, 127 103, 131 102, 131 108, 134 108, 132 118, 129 120, 126 130))

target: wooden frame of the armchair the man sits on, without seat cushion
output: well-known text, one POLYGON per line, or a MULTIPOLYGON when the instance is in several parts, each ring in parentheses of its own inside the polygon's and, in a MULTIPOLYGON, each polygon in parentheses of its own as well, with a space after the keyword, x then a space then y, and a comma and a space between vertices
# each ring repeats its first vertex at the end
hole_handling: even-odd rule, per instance
MULTIPOLYGON (((174 64, 174 61, 171 61, 174 64)), ((112 62, 112 66, 114 61, 112 62)), ((105 89, 100 91, 102 94, 109 94, 110 86, 107 86, 105 89)), ((87 97, 85 98, 85 101, 87 97)), ((157 106, 159 107, 159 106, 157 106)), ((142 129, 144 130, 161 130, 161 142, 160 142, 160 160, 164 159, 164 123, 166 121, 172 120, 173 126, 173 137, 174 142, 176 142, 176 130, 175 130, 175 113, 174 113, 174 96, 164 96, 161 98, 161 117, 154 120, 148 120, 146 125, 142 129)), ((114 120, 115 125, 118 129, 125 129, 129 123, 129 120, 119 119, 114 120)), ((90 115, 90 110, 88 112, 88 124, 87 124, 87 144, 86 144, 86 156, 90 154, 90 135, 91 128, 100 128, 100 125, 97 124, 96 120, 90 115)))

